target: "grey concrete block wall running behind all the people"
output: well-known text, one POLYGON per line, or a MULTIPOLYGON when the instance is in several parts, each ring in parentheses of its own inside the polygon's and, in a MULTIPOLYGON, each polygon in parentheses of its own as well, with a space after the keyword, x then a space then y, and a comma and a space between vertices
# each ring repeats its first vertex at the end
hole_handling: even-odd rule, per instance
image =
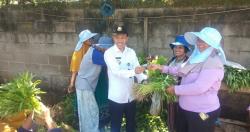
POLYGON ((215 27, 224 36, 228 59, 250 68, 249 10, 195 15, 224 10, 229 9, 122 9, 110 18, 102 18, 99 10, 0 10, 0 82, 31 71, 42 79, 42 88, 62 91, 69 82, 69 64, 78 33, 89 28, 111 35, 118 22, 127 25, 128 45, 138 54, 169 58, 169 43, 175 35, 199 31, 204 26, 215 27), (178 15, 189 16, 166 17, 178 15))

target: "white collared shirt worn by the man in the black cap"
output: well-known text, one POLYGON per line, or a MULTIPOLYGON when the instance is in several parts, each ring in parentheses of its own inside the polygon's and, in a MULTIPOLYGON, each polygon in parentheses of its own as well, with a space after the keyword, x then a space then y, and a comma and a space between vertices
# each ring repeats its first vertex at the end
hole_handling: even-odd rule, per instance
POLYGON ((135 68, 140 65, 135 51, 125 47, 124 51, 121 52, 114 45, 105 51, 104 60, 108 67, 108 98, 116 103, 133 101, 134 76, 136 76, 138 82, 147 79, 146 75, 135 73, 135 68))

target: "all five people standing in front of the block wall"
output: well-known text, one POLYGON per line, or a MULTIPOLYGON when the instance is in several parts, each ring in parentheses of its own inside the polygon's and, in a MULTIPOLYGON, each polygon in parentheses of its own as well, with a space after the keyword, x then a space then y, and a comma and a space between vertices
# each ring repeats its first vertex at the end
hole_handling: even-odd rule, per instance
MULTIPOLYGON (((98 87, 100 74, 108 77, 108 85, 104 86, 111 132, 120 132, 123 116, 126 131, 135 132, 136 102, 132 88, 135 78, 139 83, 147 79, 145 67, 140 66, 135 51, 127 47, 128 32, 124 26, 116 26, 112 38, 101 37, 98 44, 92 42, 95 35, 89 30, 79 34, 71 60, 72 77, 68 91, 76 89, 80 132, 101 131, 102 110, 97 102, 99 96, 95 96, 101 89, 98 87)), ((217 94, 226 63, 221 39, 221 34, 211 27, 178 35, 170 44, 174 57, 166 65, 147 67, 173 74, 178 80, 176 85, 166 88, 168 94, 178 96, 178 103, 168 104, 170 131, 213 132, 220 113, 217 94), (193 51, 190 45, 193 45, 193 51)))

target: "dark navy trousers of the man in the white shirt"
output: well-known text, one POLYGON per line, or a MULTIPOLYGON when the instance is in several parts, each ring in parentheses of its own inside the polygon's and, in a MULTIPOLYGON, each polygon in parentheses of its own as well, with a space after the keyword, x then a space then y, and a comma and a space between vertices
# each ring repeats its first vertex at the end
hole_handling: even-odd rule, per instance
POLYGON ((119 104, 109 100, 109 110, 111 118, 111 132, 120 132, 122 117, 126 118, 126 131, 135 132, 135 101, 119 104))

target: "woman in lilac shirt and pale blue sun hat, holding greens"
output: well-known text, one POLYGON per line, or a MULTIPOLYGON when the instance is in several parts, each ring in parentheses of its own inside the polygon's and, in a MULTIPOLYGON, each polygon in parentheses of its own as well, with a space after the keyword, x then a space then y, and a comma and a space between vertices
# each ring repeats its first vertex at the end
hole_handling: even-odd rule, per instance
POLYGON ((221 34, 205 27, 200 32, 184 34, 188 43, 195 46, 188 61, 179 67, 151 65, 182 77, 181 84, 166 89, 179 96, 180 117, 177 132, 213 132, 220 114, 218 91, 224 77, 226 57, 221 48, 221 34))

